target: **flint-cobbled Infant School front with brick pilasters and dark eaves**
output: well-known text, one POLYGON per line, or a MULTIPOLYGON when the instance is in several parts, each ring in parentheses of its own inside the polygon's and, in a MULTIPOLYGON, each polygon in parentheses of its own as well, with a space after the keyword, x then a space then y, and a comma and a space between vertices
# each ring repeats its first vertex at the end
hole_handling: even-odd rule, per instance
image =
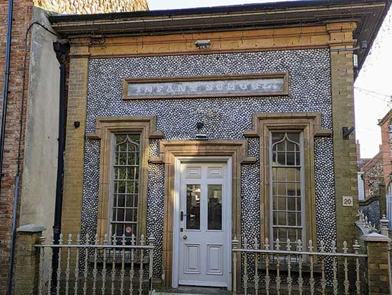
POLYGON ((53 17, 71 46, 62 232, 153 235, 164 287, 230 289, 234 237, 353 244, 353 54, 386 4, 53 17))

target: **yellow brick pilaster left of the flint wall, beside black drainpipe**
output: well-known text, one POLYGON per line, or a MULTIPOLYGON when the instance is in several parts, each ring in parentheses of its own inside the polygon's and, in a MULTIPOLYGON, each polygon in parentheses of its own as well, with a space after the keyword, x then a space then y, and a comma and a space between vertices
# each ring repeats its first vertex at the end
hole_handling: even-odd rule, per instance
POLYGON ((72 233, 74 240, 77 233, 80 233, 82 217, 87 83, 88 46, 71 46, 64 155, 62 233, 66 236, 72 233), (80 127, 75 128, 75 122, 80 122, 80 127))

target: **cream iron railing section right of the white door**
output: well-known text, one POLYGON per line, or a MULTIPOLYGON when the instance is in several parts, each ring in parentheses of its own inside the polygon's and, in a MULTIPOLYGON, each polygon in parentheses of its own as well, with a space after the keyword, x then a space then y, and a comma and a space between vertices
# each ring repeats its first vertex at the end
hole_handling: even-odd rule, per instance
POLYGON ((239 240, 236 237, 232 240, 234 295, 241 289, 245 295, 365 294, 361 289, 360 260, 367 255, 360 254, 361 246, 357 241, 353 253, 348 252, 347 242, 343 243, 340 253, 335 241, 329 245, 330 251, 326 251, 324 242, 315 247, 311 240, 307 245, 298 240, 294 247, 290 240, 283 243, 279 239, 272 243, 273 246, 268 239, 260 245, 255 238, 252 244, 250 247, 248 239, 244 238, 242 248, 239 248, 239 240), (242 273, 237 266, 240 259, 242 273), (342 278, 338 267, 343 268, 342 278), (240 280, 238 276, 241 276, 240 280))

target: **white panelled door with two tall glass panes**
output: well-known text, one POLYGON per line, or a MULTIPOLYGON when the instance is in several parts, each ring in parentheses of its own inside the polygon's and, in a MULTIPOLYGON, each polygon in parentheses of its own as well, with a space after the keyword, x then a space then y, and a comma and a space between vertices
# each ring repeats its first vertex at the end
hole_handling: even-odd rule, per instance
POLYGON ((180 171, 178 283, 227 287, 227 164, 186 163, 180 171))

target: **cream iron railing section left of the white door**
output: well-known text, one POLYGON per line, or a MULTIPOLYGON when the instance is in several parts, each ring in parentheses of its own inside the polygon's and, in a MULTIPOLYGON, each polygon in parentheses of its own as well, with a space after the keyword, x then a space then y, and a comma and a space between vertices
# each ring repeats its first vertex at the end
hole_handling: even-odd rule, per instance
POLYGON ((144 235, 140 244, 136 244, 135 235, 129 240, 122 235, 121 244, 115 235, 111 240, 104 235, 103 244, 99 244, 98 235, 91 241, 88 234, 83 240, 78 234, 75 244, 71 234, 68 243, 64 244, 63 238, 60 235, 58 244, 53 238, 45 244, 43 235, 41 244, 35 245, 40 249, 39 295, 153 294, 155 238, 149 238, 148 244, 144 235), (53 259, 57 260, 57 269, 51 267, 53 259))

